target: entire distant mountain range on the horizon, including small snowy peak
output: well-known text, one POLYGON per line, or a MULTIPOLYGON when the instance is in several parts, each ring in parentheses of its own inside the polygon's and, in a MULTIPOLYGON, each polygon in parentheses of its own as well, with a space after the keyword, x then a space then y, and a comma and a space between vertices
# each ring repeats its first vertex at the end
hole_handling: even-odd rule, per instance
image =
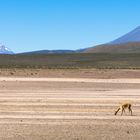
MULTIPOLYGON (((65 53, 140 53, 140 26, 133 31, 106 44, 79 50, 39 50, 22 54, 65 54, 65 53)), ((14 54, 5 46, 0 46, 0 54, 14 54)))

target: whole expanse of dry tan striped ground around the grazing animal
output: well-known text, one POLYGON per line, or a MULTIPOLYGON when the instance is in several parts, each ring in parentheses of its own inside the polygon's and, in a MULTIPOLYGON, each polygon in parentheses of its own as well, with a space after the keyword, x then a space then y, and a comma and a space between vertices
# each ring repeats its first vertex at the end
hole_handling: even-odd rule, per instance
POLYGON ((0 140, 140 139, 140 71, 25 72, 1 71, 0 140))

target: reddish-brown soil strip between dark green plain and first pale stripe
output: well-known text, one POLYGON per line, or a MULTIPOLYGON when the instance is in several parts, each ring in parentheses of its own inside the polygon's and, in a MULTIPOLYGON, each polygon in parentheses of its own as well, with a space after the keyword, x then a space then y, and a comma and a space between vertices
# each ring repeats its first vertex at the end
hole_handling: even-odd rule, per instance
POLYGON ((140 70, 96 69, 0 69, 0 77, 92 78, 118 79, 140 78, 140 70))

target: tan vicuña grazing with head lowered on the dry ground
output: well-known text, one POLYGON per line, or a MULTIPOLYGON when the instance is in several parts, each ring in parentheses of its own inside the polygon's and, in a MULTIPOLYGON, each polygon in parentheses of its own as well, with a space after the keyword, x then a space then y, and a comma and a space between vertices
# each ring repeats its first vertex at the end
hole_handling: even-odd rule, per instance
POLYGON ((125 109, 128 108, 129 112, 131 113, 132 116, 132 109, 131 109, 132 105, 130 103, 125 103, 122 104, 116 111, 114 115, 117 115, 117 113, 121 110, 121 115, 123 115, 123 113, 125 112, 125 109))

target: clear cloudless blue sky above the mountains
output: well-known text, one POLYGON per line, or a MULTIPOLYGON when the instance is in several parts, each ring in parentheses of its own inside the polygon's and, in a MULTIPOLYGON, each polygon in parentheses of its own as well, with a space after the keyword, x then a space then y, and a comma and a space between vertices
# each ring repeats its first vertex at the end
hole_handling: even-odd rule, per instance
POLYGON ((140 25, 140 0, 0 0, 0 42, 14 52, 79 49, 140 25))

